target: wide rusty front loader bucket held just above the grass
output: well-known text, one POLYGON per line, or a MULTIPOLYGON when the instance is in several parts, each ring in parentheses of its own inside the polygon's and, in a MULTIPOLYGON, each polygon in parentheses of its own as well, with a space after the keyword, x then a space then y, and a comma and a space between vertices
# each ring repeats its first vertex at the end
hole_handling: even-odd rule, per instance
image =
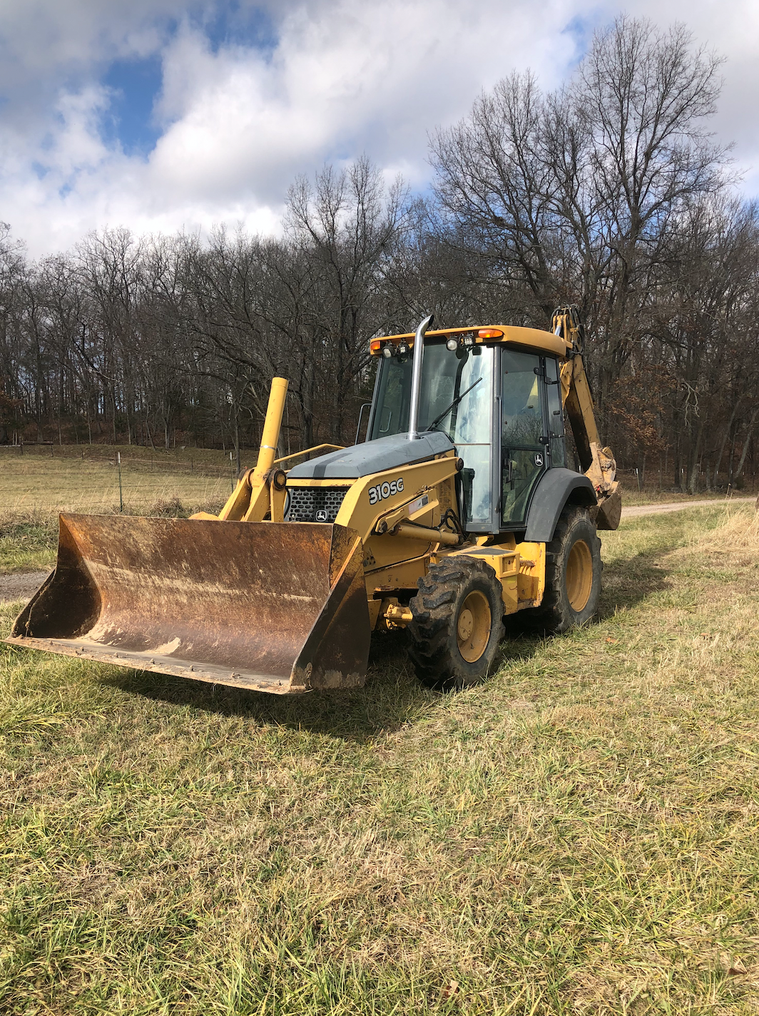
POLYGON ((362 685, 363 548, 353 529, 61 515, 58 563, 7 641, 256 691, 362 685))

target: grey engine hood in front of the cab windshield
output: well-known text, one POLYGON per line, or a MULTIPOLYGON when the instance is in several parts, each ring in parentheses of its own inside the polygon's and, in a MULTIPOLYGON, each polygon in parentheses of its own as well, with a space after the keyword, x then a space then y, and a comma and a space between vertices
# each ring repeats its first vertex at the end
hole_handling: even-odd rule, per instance
POLYGON ((406 434, 392 434, 364 444, 330 451, 310 462, 293 466, 289 480, 358 480, 386 469, 395 469, 413 462, 424 462, 454 445, 447 434, 427 431, 417 441, 409 441, 406 434))

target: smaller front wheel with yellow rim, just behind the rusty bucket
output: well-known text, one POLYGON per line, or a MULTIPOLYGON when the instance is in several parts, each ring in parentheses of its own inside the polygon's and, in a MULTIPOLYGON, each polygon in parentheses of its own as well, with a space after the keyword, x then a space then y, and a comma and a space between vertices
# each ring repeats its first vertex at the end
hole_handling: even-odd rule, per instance
POLYGON ((432 565, 417 585, 406 632, 419 680, 436 691, 485 681, 503 638, 503 597, 495 571, 484 561, 457 555, 432 565))

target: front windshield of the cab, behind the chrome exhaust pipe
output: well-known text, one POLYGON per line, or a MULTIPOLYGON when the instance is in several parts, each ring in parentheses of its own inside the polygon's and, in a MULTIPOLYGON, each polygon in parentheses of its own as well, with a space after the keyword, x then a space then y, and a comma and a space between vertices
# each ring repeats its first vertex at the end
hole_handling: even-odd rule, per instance
MULTIPOLYGON (((492 520, 493 359, 492 346, 459 346, 451 352, 443 343, 427 343, 419 406, 420 431, 435 424, 435 430, 448 435, 463 459, 463 521, 481 528, 488 528, 492 520)), ((381 361, 369 440, 408 430, 412 366, 410 357, 381 361)))

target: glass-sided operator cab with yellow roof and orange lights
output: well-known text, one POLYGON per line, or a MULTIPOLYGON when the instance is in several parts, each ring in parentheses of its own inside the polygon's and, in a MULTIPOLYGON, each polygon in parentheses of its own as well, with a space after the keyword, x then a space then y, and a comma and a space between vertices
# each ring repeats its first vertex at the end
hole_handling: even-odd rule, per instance
MULTIPOLYGON (((408 431, 413 336, 373 339, 380 356, 367 440, 408 431)), ((524 528, 547 469, 566 464, 559 358, 567 343, 532 328, 428 331, 419 431, 446 435, 463 459, 461 522, 469 532, 524 528)))

